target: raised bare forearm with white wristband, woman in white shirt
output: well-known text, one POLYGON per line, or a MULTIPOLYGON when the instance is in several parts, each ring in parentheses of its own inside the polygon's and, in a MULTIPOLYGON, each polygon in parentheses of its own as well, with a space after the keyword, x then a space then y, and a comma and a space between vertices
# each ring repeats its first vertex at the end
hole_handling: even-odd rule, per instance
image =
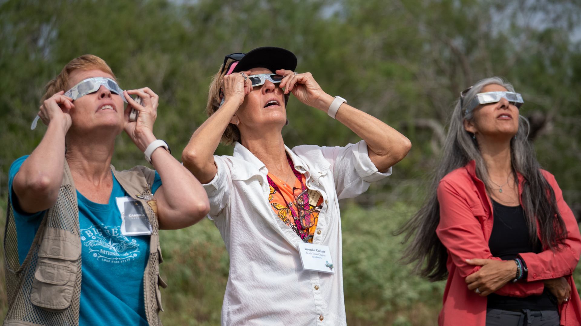
MULTIPOLYGON (((327 112, 333 102, 333 97, 325 95, 320 101, 320 110, 327 112)), ((403 160, 411 143, 406 136, 401 135, 385 122, 367 114, 347 103, 341 104, 335 119, 351 129, 367 143, 371 161, 379 171, 385 171, 390 166, 403 160)))

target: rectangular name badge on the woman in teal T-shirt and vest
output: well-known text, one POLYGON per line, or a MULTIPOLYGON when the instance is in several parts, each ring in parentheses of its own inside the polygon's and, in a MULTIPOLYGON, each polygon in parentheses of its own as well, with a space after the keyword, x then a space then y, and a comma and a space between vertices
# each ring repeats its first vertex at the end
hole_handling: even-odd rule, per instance
POLYGON ((121 234, 124 236, 146 236, 152 233, 151 224, 141 201, 131 197, 117 197, 121 213, 121 234))

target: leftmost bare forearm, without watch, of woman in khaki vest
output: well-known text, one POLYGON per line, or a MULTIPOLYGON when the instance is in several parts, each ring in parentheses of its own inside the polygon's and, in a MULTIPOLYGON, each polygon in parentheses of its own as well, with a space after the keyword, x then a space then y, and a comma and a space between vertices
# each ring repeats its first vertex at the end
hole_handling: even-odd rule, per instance
POLYGON ((63 180, 67 129, 59 121, 51 122, 40 144, 16 173, 13 189, 23 211, 44 211, 58 198, 63 180))

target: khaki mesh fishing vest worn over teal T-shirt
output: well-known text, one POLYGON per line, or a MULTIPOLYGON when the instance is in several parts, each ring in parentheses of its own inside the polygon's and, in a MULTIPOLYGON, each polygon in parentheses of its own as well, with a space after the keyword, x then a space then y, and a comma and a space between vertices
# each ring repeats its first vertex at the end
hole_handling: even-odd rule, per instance
MULTIPOLYGON (((159 311, 162 297, 159 276, 163 261, 159 246, 157 206, 151 193, 155 171, 145 166, 116 171, 121 187, 141 201, 152 226, 149 260, 144 273, 145 315, 149 325, 162 325, 159 311)), ((69 165, 64 162, 63 183, 53 207, 46 211, 33 244, 22 265, 19 263, 13 207, 8 202, 4 233, 4 267, 8 313, 4 325, 78 325, 81 297, 81 237, 78 223, 77 191, 69 165)), ((103 302, 106 306, 107 302, 103 302)))

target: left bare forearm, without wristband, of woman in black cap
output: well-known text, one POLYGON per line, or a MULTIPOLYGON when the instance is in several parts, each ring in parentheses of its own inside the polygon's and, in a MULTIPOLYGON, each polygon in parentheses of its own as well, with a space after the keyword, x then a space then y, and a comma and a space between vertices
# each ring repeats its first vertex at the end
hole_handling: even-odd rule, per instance
POLYGON ((235 99, 224 102, 216 113, 196 129, 184 148, 184 166, 202 183, 210 182, 216 175, 214 151, 239 106, 239 101, 235 99))

